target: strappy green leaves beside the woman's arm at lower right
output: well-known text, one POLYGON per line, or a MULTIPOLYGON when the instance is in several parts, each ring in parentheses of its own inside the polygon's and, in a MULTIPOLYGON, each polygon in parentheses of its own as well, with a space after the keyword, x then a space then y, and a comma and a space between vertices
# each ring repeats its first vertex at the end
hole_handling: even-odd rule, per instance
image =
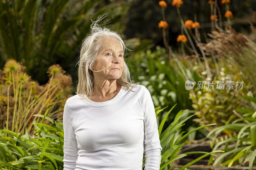
MULTIPOLYGON (((204 126, 200 126, 198 128, 195 128, 192 131, 189 131, 188 133, 185 133, 185 131, 181 131, 181 127, 185 125, 185 122, 190 119, 190 117, 193 117, 194 115, 191 115, 189 117, 184 118, 183 120, 181 119, 181 117, 186 116, 186 114, 184 114, 184 112, 186 110, 180 110, 175 118, 174 121, 168 126, 168 128, 162 132, 163 130, 163 126, 165 124, 166 118, 169 116, 169 114, 171 113, 171 111, 173 110, 173 108, 176 106, 176 104, 168 111, 168 113, 165 115, 164 119, 162 120, 161 124, 159 125, 158 128, 158 132, 159 132, 159 138, 160 138, 160 142, 161 142, 161 146, 162 146, 162 151, 161 151, 161 165, 160 165, 160 170, 161 169, 172 169, 172 162, 183 158, 187 155, 190 154, 204 154, 203 156, 200 156, 199 158, 193 160, 192 162, 188 163, 187 165, 184 165, 183 167, 180 168, 180 170, 183 170, 185 168, 187 168, 188 166, 194 164, 195 162, 197 162, 200 159, 203 159, 204 157, 208 156, 208 155, 213 155, 216 152, 223 152, 223 151, 213 151, 213 152, 186 152, 186 153, 182 153, 179 154, 180 149, 182 148, 182 146, 186 143, 184 142, 184 140, 193 132, 198 131, 200 129, 203 129, 207 126, 211 126, 214 124, 207 124, 204 126), (185 133, 185 134, 184 134, 185 133), (181 143, 182 142, 182 143, 181 143), (170 165, 170 167, 169 167, 170 165)), ((166 108, 166 107, 165 107, 166 108)), ((160 107, 157 107, 156 110, 156 115, 158 115, 161 111, 163 111, 165 108, 160 109, 160 107)), ((143 159, 143 161, 145 160, 145 158, 143 159)))

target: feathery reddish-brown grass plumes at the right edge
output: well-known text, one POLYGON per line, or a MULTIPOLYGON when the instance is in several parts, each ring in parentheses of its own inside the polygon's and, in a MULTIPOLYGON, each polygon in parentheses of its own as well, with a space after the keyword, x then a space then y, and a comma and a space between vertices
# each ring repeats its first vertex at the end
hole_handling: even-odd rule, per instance
POLYGON ((218 60, 224 60, 224 63, 240 66, 249 82, 256 84, 256 43, 244 34, 237 33, 231 26, 225 31, 208 35, 211 38, 209 43, 200 43, 205 54, 214 55, 218 60))

